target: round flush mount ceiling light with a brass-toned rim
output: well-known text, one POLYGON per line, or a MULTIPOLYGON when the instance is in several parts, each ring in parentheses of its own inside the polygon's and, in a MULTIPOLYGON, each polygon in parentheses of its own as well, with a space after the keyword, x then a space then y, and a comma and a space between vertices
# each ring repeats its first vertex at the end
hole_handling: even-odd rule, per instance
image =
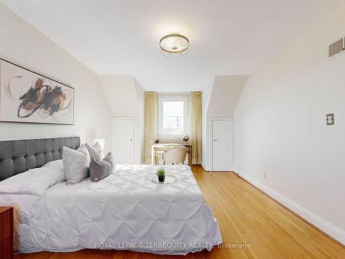
POLYGON ((185 52, 189 48, 189 40, 186 36, 177 32, 166 35, 159 41, 159 46, 169 54, 185 52))

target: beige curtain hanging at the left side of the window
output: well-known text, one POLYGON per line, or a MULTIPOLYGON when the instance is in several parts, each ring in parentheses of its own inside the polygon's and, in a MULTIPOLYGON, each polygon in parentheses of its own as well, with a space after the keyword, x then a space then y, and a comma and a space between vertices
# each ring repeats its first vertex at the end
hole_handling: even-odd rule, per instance
POLYGON ((151 146, 157 140, 157 93, 145 93, 144 148, 145 164, 151 163, 151 146))

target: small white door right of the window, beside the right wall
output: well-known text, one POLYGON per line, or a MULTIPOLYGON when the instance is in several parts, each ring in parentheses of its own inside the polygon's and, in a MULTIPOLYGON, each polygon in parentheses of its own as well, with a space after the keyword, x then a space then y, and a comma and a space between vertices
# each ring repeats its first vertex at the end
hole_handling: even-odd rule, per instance
POLYGON ((212 171, 233 169, 233 119, 212 119, 212 171))

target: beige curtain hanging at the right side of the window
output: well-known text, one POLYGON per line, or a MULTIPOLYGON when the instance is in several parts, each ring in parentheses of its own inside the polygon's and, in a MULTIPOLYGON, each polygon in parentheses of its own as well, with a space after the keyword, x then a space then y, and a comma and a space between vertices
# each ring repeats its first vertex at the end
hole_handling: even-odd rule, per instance
POLYGON ((201 164, 201 93, 192 92, 189 98, 190 144, 192 164, 201 164))

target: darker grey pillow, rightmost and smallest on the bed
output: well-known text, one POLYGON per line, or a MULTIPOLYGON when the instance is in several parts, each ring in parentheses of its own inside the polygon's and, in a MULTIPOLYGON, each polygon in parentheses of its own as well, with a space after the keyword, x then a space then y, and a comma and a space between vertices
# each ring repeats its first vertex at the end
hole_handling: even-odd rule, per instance
POLYGON ((91 157, 90 180, 92 182, 98 182, 99 180, 106 178, 114 170, 115 162, 110 152, 103 158, 103 160, 96 160, 94 157, 91 157))

